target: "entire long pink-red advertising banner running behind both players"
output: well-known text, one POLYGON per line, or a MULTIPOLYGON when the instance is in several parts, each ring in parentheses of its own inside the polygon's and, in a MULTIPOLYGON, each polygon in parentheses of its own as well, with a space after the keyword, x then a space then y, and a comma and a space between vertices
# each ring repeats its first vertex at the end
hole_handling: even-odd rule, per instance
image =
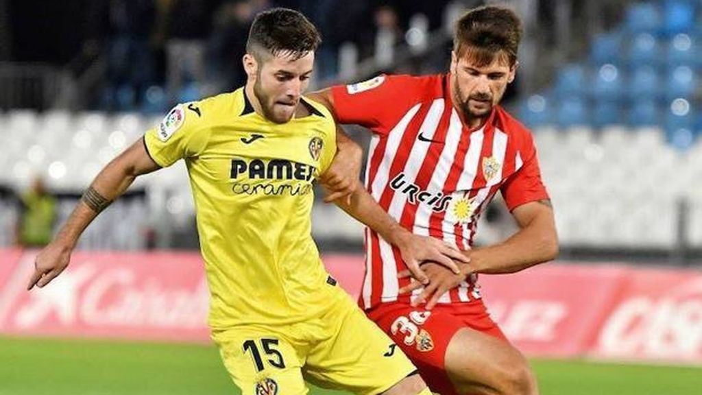
MULTIPOLYGON (((210 342, 197 253, 76 252, 67 271, 27 292, 36 252, 0 250, 0 333, 210 342)), ((354 297, 363 259, 324 257, 354 297)), ((529 356, 702 364, 702 272, 544 264, 481 276, 491 316, 529 356)))

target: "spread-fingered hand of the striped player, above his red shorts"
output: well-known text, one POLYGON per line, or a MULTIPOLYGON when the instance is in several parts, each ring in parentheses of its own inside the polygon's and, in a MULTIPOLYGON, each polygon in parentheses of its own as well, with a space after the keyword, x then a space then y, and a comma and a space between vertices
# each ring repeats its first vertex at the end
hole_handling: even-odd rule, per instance
MULTIPOLYGON (((429 278, 429 284, 423 285, 418 281, 413 281, 410 285, 400 288, 399 294, 407 294, 413 290, 418 290, 424 287, 424 291, 416 299, 411 301, 413 307, 416 307, 422 303, 426 303, 425 309, 431 310, 439 302, 439 298, 452 290, 454 287, 461 285, 465 278, 470 276, 470 267, 467 264, 461 264, 461 273, 456 274, 449 269, 435 264, 433 262, 427 262, 422 265, 424 272, 429 278)), ((402 271, 399 273, 399 278, 406 278, 411 276, 409 271, 402 271)))

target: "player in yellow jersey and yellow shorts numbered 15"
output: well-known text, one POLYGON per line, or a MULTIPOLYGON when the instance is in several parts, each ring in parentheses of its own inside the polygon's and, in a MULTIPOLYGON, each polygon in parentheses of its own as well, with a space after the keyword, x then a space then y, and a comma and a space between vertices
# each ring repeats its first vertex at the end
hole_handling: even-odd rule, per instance
MULTIPOLYGON (((306 394, 304 380, 357 394, 430 394, 402 351, 326 273, 310 235, 312 182, 324 180, 337 149, 333 117, 302 96, 319 41, 296 11, 260 13, 244 56, 246 86, 177 105, 108 164, 37 257, 29 289, 63 271, 82 231, 136 176, 183 159, 212 337, 244 394, 306 394)), ((343 205, 356 206, 369 226, 389 220, 364 190, 346 192, 343 205)), ((404 246, 403 255, 452 263, 447 247, 391 228, 383 237, 404 246)))

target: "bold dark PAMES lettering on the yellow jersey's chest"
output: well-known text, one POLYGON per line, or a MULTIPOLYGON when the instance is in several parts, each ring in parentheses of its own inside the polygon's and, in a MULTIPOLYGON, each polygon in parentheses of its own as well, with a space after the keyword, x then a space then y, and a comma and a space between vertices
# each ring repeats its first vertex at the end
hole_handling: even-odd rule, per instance
POLYGON ((249 179, 278 179, 310 181, 314 175, 314 167, 304 163, 289 160, 274 159, 264 162, 260 159, 232 160, 230 177, 237 179, 241 174, 246 174, 249 179))

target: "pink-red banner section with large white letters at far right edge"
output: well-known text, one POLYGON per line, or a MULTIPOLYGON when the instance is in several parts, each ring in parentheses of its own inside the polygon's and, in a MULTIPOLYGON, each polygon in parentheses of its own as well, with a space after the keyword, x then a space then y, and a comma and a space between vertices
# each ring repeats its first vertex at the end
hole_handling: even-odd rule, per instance
POLYGON ((702 273, 629 270, 591 353, 702 364, 702 273))

